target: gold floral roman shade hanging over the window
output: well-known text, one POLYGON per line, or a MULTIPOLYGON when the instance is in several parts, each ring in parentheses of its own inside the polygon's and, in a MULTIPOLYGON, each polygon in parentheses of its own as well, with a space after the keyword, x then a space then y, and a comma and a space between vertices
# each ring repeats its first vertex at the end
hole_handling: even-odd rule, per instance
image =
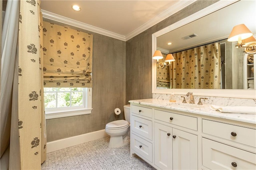
POLYGON ((44 87, 92 87, 93 36, 43 23, 44 87))

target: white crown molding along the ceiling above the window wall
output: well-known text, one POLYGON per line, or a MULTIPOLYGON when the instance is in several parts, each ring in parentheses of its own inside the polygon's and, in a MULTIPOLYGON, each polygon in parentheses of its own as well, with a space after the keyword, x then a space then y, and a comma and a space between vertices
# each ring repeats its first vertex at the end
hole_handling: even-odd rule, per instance
POLYGON ((98 27, 95 27, 95 26, 91 26, 89 24, 82 23, 82 22, 77 21, 77 20, 73 20, 73 19, 70 19, 70 18, 67 18, 67 17, 64 17, 64 16, 60 16, 60 15, 54 14, 52 12, 48 12, 48 11, 45 11, 45 10, 41 10, 41 11, 42 11, 43 18, 53 20, 53 21, 56 21, 56 22, 61 22, 63 24, 68 24, 70 26, 74 26, 74 27, 77 27, 77 28, 82 28, 84 30, 95 32, 95 33, 98 33, 98 34, 101 34, 101 35, 104 35, 104 36, 108 36, 108 37, 111 37, 111 38, 115 38, 115 39, 118 39, 118 40, 126 41, 125 36, 122 36, 120 34, 116 34, 116 33, 113 33, 113 32, 110 32, 110 31, 107 31, 107 30, 104 30, 104 29, 101 29, 101 28, 98 28, 98 27))

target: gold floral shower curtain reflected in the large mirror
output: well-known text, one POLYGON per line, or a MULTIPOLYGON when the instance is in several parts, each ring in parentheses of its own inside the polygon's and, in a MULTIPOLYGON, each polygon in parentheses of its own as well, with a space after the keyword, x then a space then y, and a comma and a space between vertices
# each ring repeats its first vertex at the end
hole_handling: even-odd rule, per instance
POLYGON ((220 89, 220 43, 202 45, 173 53, 170 69, 174 89, 220 89))

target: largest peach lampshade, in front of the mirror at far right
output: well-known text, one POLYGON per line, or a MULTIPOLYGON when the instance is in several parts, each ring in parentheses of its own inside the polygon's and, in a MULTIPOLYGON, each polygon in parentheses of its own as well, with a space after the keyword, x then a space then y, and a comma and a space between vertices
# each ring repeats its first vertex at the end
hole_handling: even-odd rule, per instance
POLYGON ((249 38, 252 35, 252 32, 244 24, 239 24, 237 26, 234 26, 234 28, 232 29, 228 37, 228 42, 241 41, 249 38))

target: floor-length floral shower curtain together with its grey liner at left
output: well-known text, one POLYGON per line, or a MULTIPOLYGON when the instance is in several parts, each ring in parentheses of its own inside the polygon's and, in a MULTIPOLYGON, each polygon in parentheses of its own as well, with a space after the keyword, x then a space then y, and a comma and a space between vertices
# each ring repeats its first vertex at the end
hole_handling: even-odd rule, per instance
POLYGON ((8 0, 1 44, 1 170, 41 169, 46 159, 40 18, 40 1, 8 0))

